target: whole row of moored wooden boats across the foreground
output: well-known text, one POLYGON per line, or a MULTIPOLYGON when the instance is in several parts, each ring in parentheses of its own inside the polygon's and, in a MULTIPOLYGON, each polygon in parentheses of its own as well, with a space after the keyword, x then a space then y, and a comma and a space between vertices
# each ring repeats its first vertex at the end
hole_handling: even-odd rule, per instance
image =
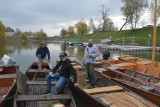
MULTIPOLYGON (((84 67, 76 61, 72 64, 78 69, 81 80, 79 75, 84 73, 84 67)), ((7 107, 12 98, 14 107, 76 107, 72 92, 77 93, 88 107, 160 106, 159 62, 151 66, 150 60, 131 56, 100 60, 95 63, 94 88, 88 88, 89 83, 75 87, 69 82, 59 94, 54 90, 57 80, 52 81, 52 94, 44 94, 49 67, 43 63, 42 70, 38 70, 37 65, 34 62, 25 74, 18 66, 1 67, 0 107, 7 107)))

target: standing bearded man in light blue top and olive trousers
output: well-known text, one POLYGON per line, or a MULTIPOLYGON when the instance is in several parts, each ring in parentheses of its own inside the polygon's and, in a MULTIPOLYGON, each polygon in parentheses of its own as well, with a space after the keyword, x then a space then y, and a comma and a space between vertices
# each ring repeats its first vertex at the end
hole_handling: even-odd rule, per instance
POLYGON ((88 40, 88 46, 85 48, 85 54, 84 54, 84 62, 86 65, 86 71, 87 71, 87 79, 91 83, 91 87, 95 86, 95 67, 94 63, 96 61, 96 57, 99 56, 98 48, 97 46, 93 45, 93 40, 88 40))

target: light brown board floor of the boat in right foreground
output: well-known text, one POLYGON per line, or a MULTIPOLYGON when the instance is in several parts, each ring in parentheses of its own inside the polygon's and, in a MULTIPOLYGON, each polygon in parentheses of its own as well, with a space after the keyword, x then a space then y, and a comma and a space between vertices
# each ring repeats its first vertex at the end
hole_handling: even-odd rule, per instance
POLYGON ((154 107, 152 103, 129 92, 104 94, 99 99, 111 107, 154 107))

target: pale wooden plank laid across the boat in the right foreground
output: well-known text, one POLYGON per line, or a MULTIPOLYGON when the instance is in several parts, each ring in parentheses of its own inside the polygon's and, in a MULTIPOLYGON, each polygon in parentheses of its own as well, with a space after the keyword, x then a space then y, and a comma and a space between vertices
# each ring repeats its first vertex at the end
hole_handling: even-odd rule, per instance
POLYGON ((115 92, 115 91, 122 91, 123 88, 120 86, 108 86, 108 87, 98 87, 92 89, 84 89, 85 92, 88 94, 97 94, 97 93, 104 93, 104 92, 115 92))

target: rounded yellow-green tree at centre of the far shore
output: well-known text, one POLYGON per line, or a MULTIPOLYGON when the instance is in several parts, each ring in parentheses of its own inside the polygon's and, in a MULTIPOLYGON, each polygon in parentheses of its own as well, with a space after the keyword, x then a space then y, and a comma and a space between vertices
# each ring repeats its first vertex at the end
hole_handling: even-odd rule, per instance
POLYGON ((88 26, 84 21, 79 21, 75 24, 76 30, 78 34, 87 34, 88 33, 88 26))

